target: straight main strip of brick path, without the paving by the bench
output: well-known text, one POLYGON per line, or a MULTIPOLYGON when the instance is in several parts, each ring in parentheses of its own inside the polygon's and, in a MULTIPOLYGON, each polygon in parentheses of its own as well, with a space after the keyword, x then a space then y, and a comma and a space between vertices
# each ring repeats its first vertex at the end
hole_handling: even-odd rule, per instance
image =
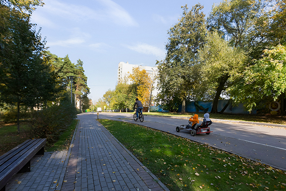
POLYGON ((95 119, 80 119, 61 190, 167 190, 148 172, 95 119))

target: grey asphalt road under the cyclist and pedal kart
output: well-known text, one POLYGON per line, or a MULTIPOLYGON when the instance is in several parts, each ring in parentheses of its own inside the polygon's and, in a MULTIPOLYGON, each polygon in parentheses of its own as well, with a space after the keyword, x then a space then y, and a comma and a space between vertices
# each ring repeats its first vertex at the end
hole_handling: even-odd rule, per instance
MULTIPOLYGON (((106 112, 99 113, 99 118, 135 123, 169 132, 268 164, 277 169, 286 170, 286 128, 230 123, 212 119, 213 123, 209 127, 213 132, 210 135, 202 133, 191 136, 189 131, 176 132, 176 127, 188 124, 188 119, 147 116, 146 113, 143 113, 145 114, 144 122, 141 123, 139 120, 133 120, 133 114, 106 112)), ((97 117, 97 113, 87 115, 97 117)))

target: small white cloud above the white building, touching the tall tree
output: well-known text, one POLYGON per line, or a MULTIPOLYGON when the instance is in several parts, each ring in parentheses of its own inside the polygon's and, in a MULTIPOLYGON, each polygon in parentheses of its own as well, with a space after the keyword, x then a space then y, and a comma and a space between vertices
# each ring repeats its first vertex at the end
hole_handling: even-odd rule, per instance
POLYGON ((164 50, 162 50, 156 46, 149 45, 149 44, 141 43, 141 44, 137 44, 135 46, 126 45, 126 47, 129 48, 130 50, 134 50, 134 51, 142 53, 142 54, 154 55, 159 59, 164 59, 164 57, 165 57, 165 51, 164 50))

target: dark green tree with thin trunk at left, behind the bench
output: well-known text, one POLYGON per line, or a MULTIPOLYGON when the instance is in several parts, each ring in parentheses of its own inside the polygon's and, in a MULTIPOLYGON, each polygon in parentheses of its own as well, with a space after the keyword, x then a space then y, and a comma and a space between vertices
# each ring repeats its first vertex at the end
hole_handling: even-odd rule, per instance
MULTIPOLYGON (((8 1, 5 1, 9 4, 8 1)), ((22 2, 22 1, 21 1, 22 2)), ((23 1, 24 2, 24 1, 23 1)), ((50 98, 55 80, 41 60, 45 42, 29 23, 29 16, 2 4, 0 17, 1 100, 18 108, 34 107, 50 98)))

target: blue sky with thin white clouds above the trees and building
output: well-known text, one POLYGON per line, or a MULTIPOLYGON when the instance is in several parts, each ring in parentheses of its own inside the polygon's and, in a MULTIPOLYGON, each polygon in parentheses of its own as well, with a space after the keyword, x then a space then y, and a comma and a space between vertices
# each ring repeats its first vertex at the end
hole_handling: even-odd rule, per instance
POLYGON ((155 66, 165 57, 168 29, 177 23, 181 6, 204 5, 208 15, 218 0, 43 0, 31 22, 41 27, 49 51, 84 62, 90 94, 97 101, 117 83, 119 62, 155 66))

